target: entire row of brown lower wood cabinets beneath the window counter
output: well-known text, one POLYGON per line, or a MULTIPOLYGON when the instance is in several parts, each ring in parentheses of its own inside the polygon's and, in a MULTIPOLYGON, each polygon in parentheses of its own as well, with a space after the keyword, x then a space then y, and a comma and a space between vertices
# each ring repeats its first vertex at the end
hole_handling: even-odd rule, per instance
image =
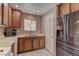
POLYGON ((33 51, 45 47, 44 36, 37 37, 19 37, 18 38, 18 53, 33 51))

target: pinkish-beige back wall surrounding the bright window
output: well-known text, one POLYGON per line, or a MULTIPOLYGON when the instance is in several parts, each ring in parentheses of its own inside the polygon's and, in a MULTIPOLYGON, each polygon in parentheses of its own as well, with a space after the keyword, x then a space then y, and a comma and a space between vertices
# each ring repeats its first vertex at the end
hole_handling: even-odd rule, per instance
POLYGON ((21 17, 21 28, 17 29, 17 34, 25 34, 25 35, 34 34, 35 35, 35 34, 40 34, 40 33, 43 33, 43 31, 42 31, 42 17, 23 13, 22 17, 21 17), (31 31, 31 32, 25 31, 24 30, 24 19, 32 20, 32 18, 33 18, 33 20, 37 21, 36 31, 31 31))

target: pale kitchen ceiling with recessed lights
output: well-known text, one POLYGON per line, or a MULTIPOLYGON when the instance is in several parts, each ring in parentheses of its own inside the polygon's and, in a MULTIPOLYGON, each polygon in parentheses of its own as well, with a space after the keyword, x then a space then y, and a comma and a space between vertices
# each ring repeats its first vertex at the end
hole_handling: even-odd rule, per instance
POLYGON ((43 15, 57 4, 56 3, 12 3, 11 5, 13 8, 19 9, 25 13, 43 15), (18 7, 15 7, 15 5, 18 5, 18 7))

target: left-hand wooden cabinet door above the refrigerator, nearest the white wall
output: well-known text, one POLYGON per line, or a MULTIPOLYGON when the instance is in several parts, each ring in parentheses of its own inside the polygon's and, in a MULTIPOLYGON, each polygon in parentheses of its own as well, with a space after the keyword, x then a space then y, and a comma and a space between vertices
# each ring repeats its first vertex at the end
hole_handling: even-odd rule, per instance
POLYGON ((60 5, 60 16, 70 13, 70 4, 63 3, 60 5))

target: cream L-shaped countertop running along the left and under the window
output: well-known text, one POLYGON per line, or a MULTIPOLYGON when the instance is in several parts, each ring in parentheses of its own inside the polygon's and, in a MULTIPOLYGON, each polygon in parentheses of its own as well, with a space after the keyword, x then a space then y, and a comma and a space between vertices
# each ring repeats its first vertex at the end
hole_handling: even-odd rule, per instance
MULTIPOLYGON (((40 35, 33 35, 33 37, 35 36, 44 36, 43 34, 40 35)), ((13 42, 15 42, 17 40, 18 37, 29 37, 26 35, 16 35, 13 37, 4 37, 2 39, 0 39, 0 47, 6 47, 6 46, 11 46, 13 44, 13 42)))

